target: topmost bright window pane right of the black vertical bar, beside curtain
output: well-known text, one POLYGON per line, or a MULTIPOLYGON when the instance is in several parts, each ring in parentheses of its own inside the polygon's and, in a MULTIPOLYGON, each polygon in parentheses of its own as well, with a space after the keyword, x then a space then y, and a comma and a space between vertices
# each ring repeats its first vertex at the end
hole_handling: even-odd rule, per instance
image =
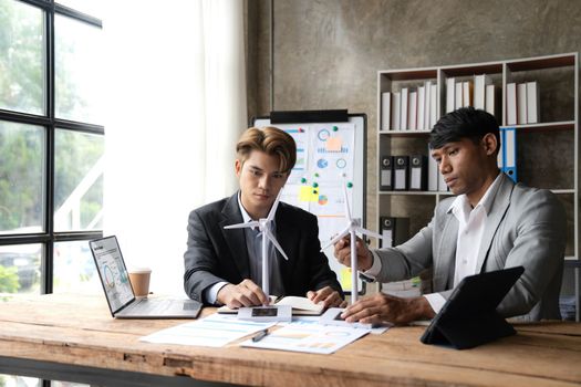
POLYGON ((54 17, 58 118, 102 124, 102 31, 71 18, 54 17))

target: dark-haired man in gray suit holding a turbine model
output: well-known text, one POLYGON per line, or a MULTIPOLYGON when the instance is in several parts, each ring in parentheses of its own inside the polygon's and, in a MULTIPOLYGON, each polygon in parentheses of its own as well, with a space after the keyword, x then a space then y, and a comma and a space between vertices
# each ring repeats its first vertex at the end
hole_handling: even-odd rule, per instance
MULTIPOLYGON (((498 306, 505 316, 560 318, 566 215, 556 196, 513 184, 500 172, 498 124, 471 107, 442 117, 429 136, 432 157, 456 197, 442 200, 432 221, 407 242, 371 251, 357 241, 359 268, 381 282, 401 281, 433 268, 433 291, 401 299, 375 294, 351 305, 349 322, 407 323, 432 318, 463 278, 522 265, 525 273, 498 306)), ((349 240, 335 258, 350 262, 349 240)))

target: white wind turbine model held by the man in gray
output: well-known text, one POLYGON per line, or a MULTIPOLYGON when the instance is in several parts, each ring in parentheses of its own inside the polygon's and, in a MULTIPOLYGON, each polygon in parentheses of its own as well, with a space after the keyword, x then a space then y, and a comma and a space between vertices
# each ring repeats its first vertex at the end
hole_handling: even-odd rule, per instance
MULTIPOLYGON (((346 185, 343 186, 343 199, 345 201, 345 217, 347 219, 347 226, 341 231, 335 238, 333 238, 329 243, 326 243, 321 251, 325 250, 332 244, 339 242, 343 237, 350 234, 350 248, 351 248, 351 304, 357 301, 359 295, 359 271, 357 271, 357 249, 356 249, 356 233, 361 232, 362 234, 370 236, 377 239, 383 239, 376 232, 366 230, 361 227, 361 219, 355 219, 351 216, 351 209, 349 207, 347 189, 346 185)), ((332 325, 344 325, 347 324, 342 320, 338 320, 339 315, 343 312, 340 307, 329 308, 322 316, 321 323, 332 324, 332 325)), ((360 324, 360 323, 356 323, 360 324)), ((360 324, 367 327, 370 324, 360 324)))

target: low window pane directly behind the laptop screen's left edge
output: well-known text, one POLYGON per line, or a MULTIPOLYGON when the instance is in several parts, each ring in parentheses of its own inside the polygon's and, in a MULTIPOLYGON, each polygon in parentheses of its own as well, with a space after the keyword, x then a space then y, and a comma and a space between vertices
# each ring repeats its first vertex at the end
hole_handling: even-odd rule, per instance
POLYGON ((103 292, 89 241, 54 243, 54 293, 103 292))

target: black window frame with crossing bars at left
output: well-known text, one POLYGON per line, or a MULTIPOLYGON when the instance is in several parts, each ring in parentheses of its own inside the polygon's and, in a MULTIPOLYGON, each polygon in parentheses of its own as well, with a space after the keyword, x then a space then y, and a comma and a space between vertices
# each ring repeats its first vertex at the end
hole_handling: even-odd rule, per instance
POLYGON ((40 293, 49 294, 53 292, 54 283, 54 244, 56 242, 89 241, 103 237, 103 230, 86 231, 54 231, 54 139, 56 128, 66 129, 75 133, 89 133, 105 135, 103 125, 95 125, 55 117, 54 108, 54 17, 63 15, 75 21, 86 23, 92 27, 103 29, 101 19, 94 18, 74 9, 56 3, 54 0, 13 0, 35 7, 44 11, 44 50, 45 50, 45 114, 37 115, 8 111, 0 108, 0 121, 42 126, 45 129, 44 142, 44 231, 38 233, 6 233, 0 234, 0 245, 6 244, 42 244, 41 261, 41 285, 40 293))

